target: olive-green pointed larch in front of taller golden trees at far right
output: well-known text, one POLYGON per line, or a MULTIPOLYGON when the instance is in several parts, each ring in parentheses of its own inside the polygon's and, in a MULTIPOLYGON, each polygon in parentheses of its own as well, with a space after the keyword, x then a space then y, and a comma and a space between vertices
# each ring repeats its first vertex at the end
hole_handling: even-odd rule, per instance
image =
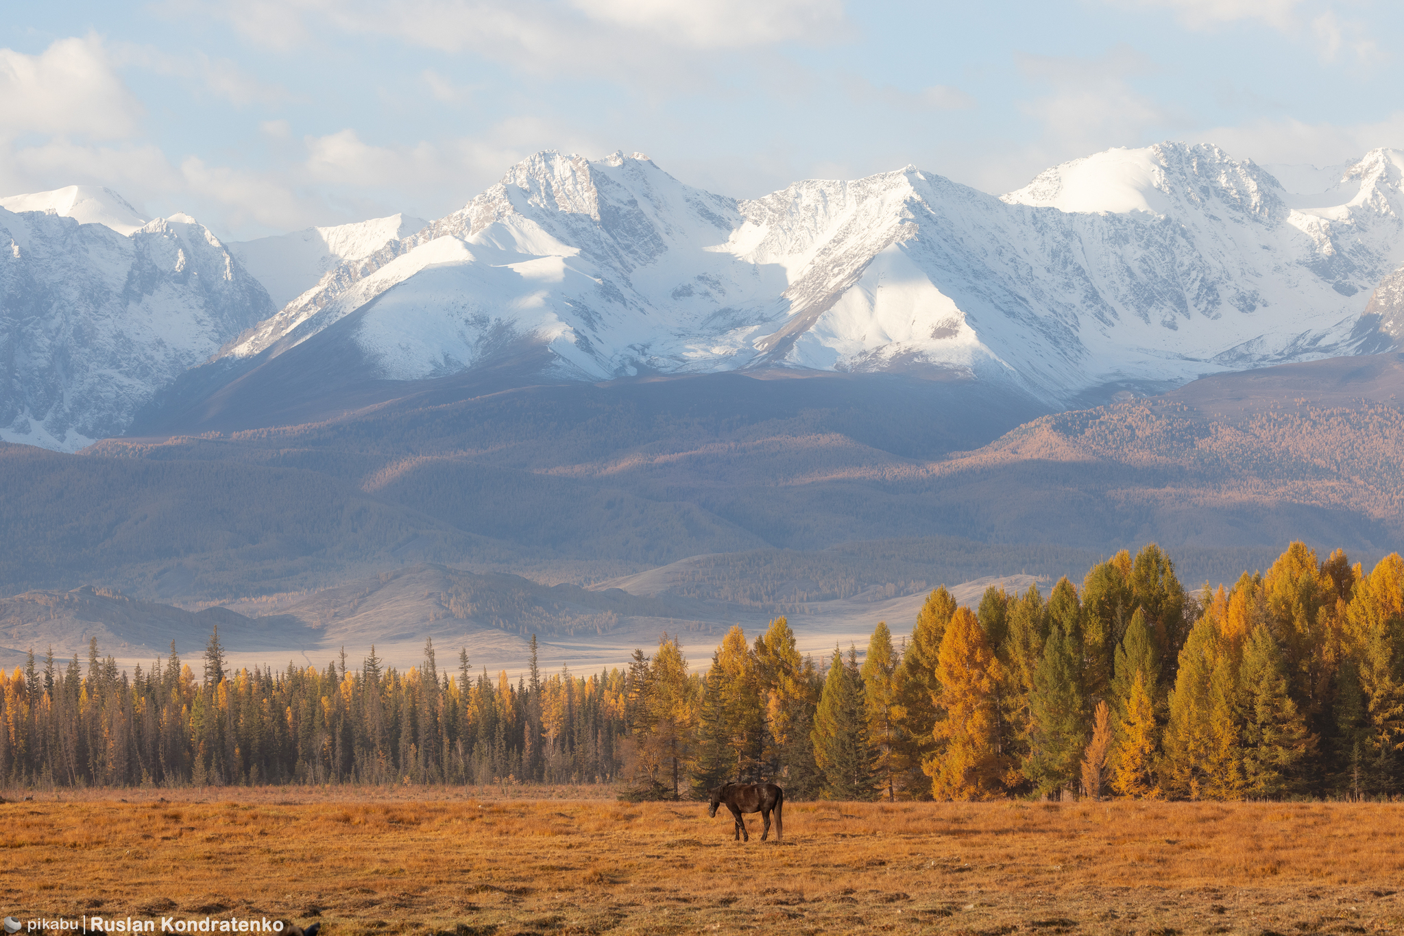
POLYGON ((1258 624, 1250 636, 1238 678, 1245 716, 1245 791, 1254 798, 1292 793, 1313 740, 1287 692, 1282 650, 1266 624, 1258 624))

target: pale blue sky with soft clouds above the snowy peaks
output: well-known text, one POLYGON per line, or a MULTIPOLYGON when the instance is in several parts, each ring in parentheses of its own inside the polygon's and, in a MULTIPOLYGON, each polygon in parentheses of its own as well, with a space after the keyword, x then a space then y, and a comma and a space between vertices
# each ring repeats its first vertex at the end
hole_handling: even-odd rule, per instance
POLYGON ((0 18, 0 195, 105 185, 243 240, 462 208, 543 149, 754 198, 986 192, 1113 146, 1404 147, 1398 0, 154 0, 0 18))

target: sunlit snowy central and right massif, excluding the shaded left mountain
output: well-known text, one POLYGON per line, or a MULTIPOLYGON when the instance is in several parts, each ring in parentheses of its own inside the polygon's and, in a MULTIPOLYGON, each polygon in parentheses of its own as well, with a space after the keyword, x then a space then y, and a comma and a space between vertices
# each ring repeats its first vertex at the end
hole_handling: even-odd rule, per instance
POLYGON ((531 338, 588 379, 925 368, 1060 404, 1109 382, 1377 349, 1362 313, 1404 262, 1401 168, 1375 150, 1294 195, 1216 147, 1164 143, 1002 198, 907 167, 734 201, 640 154, 548 152, 329 272, 225 354, 279 354, 359 310, 355 341, 390 379, 531 338))

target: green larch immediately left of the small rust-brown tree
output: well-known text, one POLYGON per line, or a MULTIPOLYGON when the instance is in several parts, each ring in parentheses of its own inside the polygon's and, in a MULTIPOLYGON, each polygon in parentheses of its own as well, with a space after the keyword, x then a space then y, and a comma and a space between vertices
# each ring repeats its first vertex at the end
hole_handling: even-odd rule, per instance
POLYGON ((1057 624, 1049 631, 1029 692, 1028 754, 1021 770, 1035 791, 1050 796, 1073 786, 1087 734, 1081 647, 1075 633, 1057 624))

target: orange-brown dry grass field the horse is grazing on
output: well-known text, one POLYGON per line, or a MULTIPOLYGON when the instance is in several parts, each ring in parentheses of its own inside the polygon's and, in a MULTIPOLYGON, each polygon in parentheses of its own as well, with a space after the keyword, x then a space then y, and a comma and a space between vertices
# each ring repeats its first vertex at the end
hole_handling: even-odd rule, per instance
POLYGON ((0 912, 326 936, 1404 929, 1400 805, 792 803, 783 845, 758 817, 743 845, 705 804, 469 793, 37 793, 0 805, 0 912))

